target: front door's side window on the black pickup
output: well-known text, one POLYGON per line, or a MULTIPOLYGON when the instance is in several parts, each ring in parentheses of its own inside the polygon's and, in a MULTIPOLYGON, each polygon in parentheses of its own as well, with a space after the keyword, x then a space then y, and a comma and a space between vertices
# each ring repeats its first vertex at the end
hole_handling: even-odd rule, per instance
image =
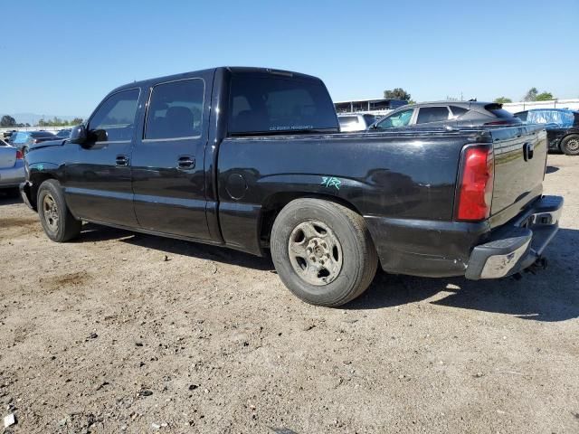
POLYGON ((139 93, 138 89, 123 90, 100 105, 89 122, 89 130, 98 141, 130 140, 133 137, 139 93))

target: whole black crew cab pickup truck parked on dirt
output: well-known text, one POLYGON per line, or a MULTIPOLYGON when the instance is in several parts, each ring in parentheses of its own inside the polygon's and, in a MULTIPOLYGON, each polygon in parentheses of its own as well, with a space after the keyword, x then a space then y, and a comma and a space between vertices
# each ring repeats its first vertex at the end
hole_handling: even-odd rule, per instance
POLYGON ((542 127, 341 134, 321 80, 215 68, 113 90, 71 138, 31 146, 24 202, 53 241, 81 222, 271 258, 309 303, 390 273, 502 278, 540 261, 542 127))

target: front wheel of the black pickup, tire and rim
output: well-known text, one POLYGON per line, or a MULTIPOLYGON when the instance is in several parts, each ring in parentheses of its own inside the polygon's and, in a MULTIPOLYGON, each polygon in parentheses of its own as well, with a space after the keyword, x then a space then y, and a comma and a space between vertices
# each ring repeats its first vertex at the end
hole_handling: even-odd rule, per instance
POLYGON ((81 233, 82 222, 69 211, 61 184, 49 179, 38 188, 38 215, 48 238, 56 242, 70 241, 81 233))

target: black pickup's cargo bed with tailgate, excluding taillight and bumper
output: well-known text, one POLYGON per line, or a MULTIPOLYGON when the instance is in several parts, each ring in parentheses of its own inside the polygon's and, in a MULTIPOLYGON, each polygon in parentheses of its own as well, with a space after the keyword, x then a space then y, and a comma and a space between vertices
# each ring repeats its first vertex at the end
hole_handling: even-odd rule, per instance
POLYGON ((216 165, 215 206, 225 243, 240 248, 261 240, 251 243, 256 253, 267 247, 261 218, 278 203, 292 195, 329 197, 365 217, 381 240, 384 269, 421 274, 408 264, 425 259, 422 275, 460 275, 477 243, 541 195, 545 165, 546 134, 533 126, 228 137, 216 165), (527 143, 534 146, 531 164, 523 156, 527 143), (495 152, 492 214, 484 222, 454 218, 461 153, 470 144, 492 144, 495 152), (241 197, 228 191, 233 180, 245 184, 241 197))

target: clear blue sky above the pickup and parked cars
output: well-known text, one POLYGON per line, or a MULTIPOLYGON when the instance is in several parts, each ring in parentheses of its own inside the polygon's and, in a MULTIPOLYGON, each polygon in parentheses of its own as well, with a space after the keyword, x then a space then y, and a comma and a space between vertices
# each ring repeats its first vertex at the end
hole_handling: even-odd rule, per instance
POLYGON ((334 100, 579 97, 579 0, 3 2, 0 113, 85 117, 132 80, 220 65, 323 79, 334 100), (367 8, 365 8, 367 7, 367 8))

